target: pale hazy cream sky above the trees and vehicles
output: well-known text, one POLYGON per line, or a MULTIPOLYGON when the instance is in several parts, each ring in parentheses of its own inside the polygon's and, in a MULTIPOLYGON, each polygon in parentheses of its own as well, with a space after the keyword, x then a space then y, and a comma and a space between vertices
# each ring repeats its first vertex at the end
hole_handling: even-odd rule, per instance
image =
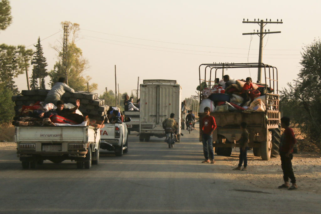
MULTIPOLYGON (((279 72, 279 89, 297 78, 302 47, 319 38, 321 1, 202 1, 202 0, 11 0, 13 23, 0 32, 1 43, 32 44, 40 37, 53 69, 61 41, 60 22, 80 25, 76 45, 89 61, 85 75, 115 90, 114 66, 121 93, 137 89, 137 78, 173 79, 182 87, 182 98, 195 95, 198 67, 213 62, 258 62, 259 37, 242 33, 259 30, 258 24, 242 23, 243 18, 272 19, 283 24, 267 24, 264 29, 281 31, 263 39, 263 63, 279 72), (55 34, 56 33, 56 34, 55 34), (54 35, 53 35, 54 34, 54 35), (52 35, 52 36, 51 36, 52 35), (250 47, 250 50, 249 50, 250 47), (249 54, 249 55, 248 55, 249 54)), ((31 75, 32 67, 29 74, 31 75)), ((231 69, 230 78, 251 76, 256 70, 231 69)), ((15 79, 19 90, 26 90, 26 76, 15 79)), ((49 81, 47 80, 47 83, 49 81)), ((50 87, 46 84, 46 87, 50 87)), ((134 91, 133 91, 134 92, 134 91)))

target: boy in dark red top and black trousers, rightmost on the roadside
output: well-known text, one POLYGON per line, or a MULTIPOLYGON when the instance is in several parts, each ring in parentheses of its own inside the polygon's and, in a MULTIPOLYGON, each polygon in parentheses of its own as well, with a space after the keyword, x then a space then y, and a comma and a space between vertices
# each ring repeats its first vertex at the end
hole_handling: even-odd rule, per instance
POLYGON ((288 190, 295 190, 298 188, 295 180, 295 176, 292 169, 292 158, 293 158, 293 147, 296 144, 293 130, 290 126, 290 118, 282 117, 281 118, 281 127, 284 128, 284 132, 281 135, 280 143, 280 157, 281 157, 281 167, 283 170, 283 180, 284 184, 278 186, 281 188, 288 188, 288 190), (291 179, 292 186, 289 185, 289 178, 291 179))

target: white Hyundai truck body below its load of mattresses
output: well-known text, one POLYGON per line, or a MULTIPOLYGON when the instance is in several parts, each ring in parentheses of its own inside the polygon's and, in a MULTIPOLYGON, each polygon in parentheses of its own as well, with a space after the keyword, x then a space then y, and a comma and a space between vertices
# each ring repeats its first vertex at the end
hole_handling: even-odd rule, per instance
POLYGON ((22 168, 44 160, 75 160, 77 168, 99 163, 100 130, 92 126, 16 126, 14 141, 22 168))

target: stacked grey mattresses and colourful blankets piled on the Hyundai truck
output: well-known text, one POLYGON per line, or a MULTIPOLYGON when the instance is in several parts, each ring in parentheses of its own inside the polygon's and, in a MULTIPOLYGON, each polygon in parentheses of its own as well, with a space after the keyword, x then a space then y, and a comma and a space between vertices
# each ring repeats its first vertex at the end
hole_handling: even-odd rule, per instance
MULTIPOLYGON (((15 117, 13 125, 39 126, 39 125, 91 125, 97 128, 103 126, 109 106, 97 93, 76 91, 65 92, 61 100, 65 102, 64 108, 74 108, 76 100, 80 100, 79 108, 74 112, 77 122, 67 117, 57 115, 53 103, 44 105, 49 90, 22 90, 17 96, 12 96, 15 102, 15 117), (73 104, 74 103, 74 104, 73 104), (39 116, 42 114, 42 116, 39 116), (80 117, 79 117, 80 116, 80 117), (79 119, 80 118, 80 119, 79 119), (83 119, 82 119, 83 118, 83 119)), ((71 117, 73 118, 73 117, 71 117)))

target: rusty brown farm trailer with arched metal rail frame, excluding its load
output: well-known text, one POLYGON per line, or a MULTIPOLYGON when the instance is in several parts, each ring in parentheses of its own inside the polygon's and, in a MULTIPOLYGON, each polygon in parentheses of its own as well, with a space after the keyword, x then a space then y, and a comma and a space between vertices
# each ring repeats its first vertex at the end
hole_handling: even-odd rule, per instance
MULTIPOLYGON (((211 116, 215 118, 217 128, 213 132, 213 148, 218 155, 230 156, 232 148, 239 147, 238 141, 241 137, 240 124, 247 123, 247 131, 249 133, 248 146, 253 148, 255 156, 261 156, 263 160, 269 160, 270 157, 278 155, 280 145, 280 112, 279 112, 279 95, 278 95, 278 71, 276 67, 263 63, 231 63, 231 64, 201 64, 199 66, 199 79, 201 85, 201 66, 205 66, 204 80, 210 79, 212 70, 215 71, 215 79, 217 71, 224 69, 242 69, 242 68, 262 68, 265 73, 265 86, 273 89, 273 92, 265 94, 266 109, 264 112, 211 112, 211 116), (206 70, 210 70, 209 77, 206 77, 206 70), (276 93, 275 93, 276 92, 276 93), (215 148, 216 147, 216 148, 215 148)), ((222 75, 223 76, 223 75, 222 75)), ((202 91, 200 100, 202 99, 202 91)), ((199 113, 200 124, 204 117, 204 113, 199 113)), ((200 133, 200 141, 202 135, 200 133)))

